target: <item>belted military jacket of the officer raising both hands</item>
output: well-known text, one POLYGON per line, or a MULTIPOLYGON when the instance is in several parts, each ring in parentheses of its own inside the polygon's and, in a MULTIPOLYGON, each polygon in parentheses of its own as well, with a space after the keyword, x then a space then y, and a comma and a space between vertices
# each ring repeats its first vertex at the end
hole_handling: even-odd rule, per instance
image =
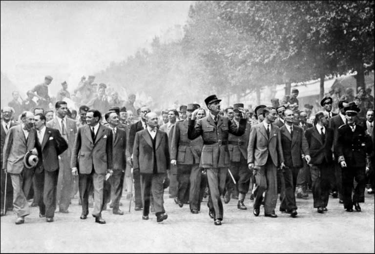
POLYGON ((202 168, 223 168, 230 166, 228 148, 229 133, 242 136, 246 129, 246 119, 241 118, 239 126, 233 124, 228 117, 218 116, 217 125, 208 114, 195 123, 188 120, 187 137, 195 139, 202 135, 203 149, 199 166, 202 168))

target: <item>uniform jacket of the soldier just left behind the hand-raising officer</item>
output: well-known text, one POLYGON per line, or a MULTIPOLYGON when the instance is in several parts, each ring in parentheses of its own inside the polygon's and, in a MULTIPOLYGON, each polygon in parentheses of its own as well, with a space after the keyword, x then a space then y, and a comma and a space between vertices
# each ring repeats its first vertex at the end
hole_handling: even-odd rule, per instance
POLYGON ((170 147, 170 159, 177 164, 193 165, 200 161, 203 147, 202 137, 190 140, 187 137, 187 120, 176 122, 170 147))

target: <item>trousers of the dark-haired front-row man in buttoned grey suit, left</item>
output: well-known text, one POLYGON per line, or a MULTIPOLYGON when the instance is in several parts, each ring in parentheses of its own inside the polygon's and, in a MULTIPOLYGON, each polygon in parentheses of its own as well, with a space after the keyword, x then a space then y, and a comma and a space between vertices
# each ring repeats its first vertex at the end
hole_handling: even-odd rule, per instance
POLYGON ((105 174, 96 174, 94 169, 90 174, 79 174, 79 190, 82 202, 82 214, 88 215, 89 190, 94 187, 94 210, 92 215, 100 216, 103 210, 103 189, 105 174))

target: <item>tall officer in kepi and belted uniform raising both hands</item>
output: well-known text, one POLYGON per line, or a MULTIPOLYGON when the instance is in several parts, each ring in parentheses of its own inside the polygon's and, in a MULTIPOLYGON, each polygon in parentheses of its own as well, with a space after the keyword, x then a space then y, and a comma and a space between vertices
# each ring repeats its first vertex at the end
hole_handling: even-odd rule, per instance
POLYGON ((195 139, 202 135, 203 149, 200 167, 206 168, 210 196, 208 199, 209 215, 215 219, 215 225, 221 225, 223 220, 223 204, 221 194, 225 187, 227 170, 230 166, 230 155, 228 150, 229 133, 242 136, 245 133, 246 118, 245 111, 237 127, 228 117, 219 116, 220 101, 216 95, 208 96, 205 103, 209 113, 207 117, 195 122, 193 114, 188 121, 187 137, 195 139))

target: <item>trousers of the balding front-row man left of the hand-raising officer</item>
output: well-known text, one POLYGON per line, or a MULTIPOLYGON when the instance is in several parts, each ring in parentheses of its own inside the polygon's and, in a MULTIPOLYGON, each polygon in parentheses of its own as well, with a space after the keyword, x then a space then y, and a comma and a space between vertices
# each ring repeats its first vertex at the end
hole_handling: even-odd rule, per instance
POLYGON ((141 194, 143 201, 143 215, 147 216, 150 213, 151 198, 153 196, 153 203, 155 215, 165 213, 164 210, 164 187, 163 181, 166 173, 141 174, 141 194))

